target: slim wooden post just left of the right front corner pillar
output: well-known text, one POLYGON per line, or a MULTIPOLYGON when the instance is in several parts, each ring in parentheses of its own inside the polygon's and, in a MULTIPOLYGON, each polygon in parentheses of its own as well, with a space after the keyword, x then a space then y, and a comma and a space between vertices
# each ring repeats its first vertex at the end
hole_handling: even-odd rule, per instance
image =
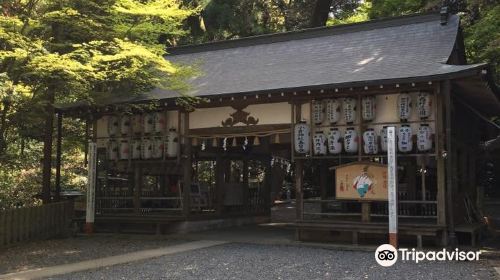
POLYGON ((437 172, 437 224, 446 226, 446 164, 442 156, 445 150, 444 102, 440 87, 435 90, 436 113, 436 172, 437 172))

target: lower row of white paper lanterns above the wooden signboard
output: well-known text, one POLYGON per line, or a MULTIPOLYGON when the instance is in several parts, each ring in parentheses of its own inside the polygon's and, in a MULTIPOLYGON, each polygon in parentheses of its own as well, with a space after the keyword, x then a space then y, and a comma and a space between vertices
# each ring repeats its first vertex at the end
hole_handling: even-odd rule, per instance
MULTIPOLYGON (((358 136, 358 131, 354 127, 346 129, 344 135, 338 128, 332 127, 326 133, 322 130, 315 131, 311 138, 309 125, 305 122, 295 125, 295 152, 299 154, 309 154, 310 139, 314 155, 357 153, 358 144, 362 142, 365 154, 378 154, 387 152, 387 127, 384 126, 378 135, 373 128, 363 132, 362 137, 358 136), (380 150, 379 150, 380 138, 380 150), (362 140, 362 141, 360 141, 362 140)), ((432 130, 428 124, 421 124, 417 132, 417 150, 427 152, 432 149, 432 130)), ((402 125, 398 130, 398 150, 402 153, 413 151, 414 140, 412 128, 409 125, 402 125)))

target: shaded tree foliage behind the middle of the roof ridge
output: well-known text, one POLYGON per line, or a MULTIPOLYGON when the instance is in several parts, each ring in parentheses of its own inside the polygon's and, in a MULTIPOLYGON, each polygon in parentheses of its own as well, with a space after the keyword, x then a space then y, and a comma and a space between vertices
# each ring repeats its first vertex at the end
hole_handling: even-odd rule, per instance
POLYGON ((185 42, 225 40, 325 25, 329 13, 351 16, 360 0, 184 0, 201 9, 185 42))

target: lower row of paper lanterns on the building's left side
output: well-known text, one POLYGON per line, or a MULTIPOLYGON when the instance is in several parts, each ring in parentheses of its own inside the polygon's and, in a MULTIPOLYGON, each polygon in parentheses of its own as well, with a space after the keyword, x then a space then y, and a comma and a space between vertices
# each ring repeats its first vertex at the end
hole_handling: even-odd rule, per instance
POLYGON ((178 134, 171 129, 166 137, 144 137, 142 139, 120 141, 110 140, 107 145, 109 160, 160 159, 177 157, 179 152, 178 134))

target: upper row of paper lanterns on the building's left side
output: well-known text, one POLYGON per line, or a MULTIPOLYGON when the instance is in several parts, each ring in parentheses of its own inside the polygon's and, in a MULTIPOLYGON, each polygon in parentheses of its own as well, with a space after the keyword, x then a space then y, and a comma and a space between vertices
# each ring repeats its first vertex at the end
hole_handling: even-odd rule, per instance
POLYGON ((163 134, 166 132, 167 118, 164 112, 136 115, 110 115, 107 118, 109 136, 163 134))

